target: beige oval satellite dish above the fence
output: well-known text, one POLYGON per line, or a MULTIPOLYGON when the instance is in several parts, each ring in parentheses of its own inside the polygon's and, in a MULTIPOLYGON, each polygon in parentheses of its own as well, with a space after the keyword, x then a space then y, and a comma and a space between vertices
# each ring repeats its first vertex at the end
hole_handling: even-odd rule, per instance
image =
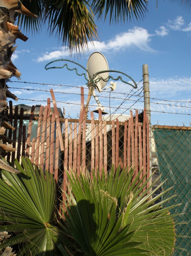
MULTIPOLYGON (((94 74, 96 74, 97 72, 109 70, 108 62, 105 59, 104 55, 101 54, 100 52, 92 53, 88 59, 87 70, 89 72, 89 74, 88 74, 89 81, 91 81, 94 74)), ((96 78, 107 79, 108 76, 109 76, 109 72, 100 73, 93 80, 95 80, 96 78)), ((96 87, 99 92, 102 91, 102 89, 105 87, 105 85, 107 83, 107 82, 103 81, 102 79, 100 79, 100 81, 98 81, 96 83, 96 87)))

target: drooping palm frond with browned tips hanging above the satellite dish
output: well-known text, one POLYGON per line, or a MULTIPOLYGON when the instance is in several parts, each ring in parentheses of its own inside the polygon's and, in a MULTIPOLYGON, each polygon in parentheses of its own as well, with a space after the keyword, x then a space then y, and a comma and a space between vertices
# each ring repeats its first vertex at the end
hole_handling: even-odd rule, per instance
POLYGON ((98 39, 97 26, 86 0, 59 1, 47 0, 45 20, 50 34, 56 33, 70 52, 80 53, 88 47, 88 40, 98 39))

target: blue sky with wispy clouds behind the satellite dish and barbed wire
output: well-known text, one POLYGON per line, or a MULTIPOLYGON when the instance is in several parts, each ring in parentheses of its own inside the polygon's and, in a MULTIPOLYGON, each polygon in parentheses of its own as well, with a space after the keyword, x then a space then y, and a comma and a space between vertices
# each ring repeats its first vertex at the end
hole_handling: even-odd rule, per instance
MULTIPOLYGON (((99 51, 106 57, 109 68, 127 73, 136 82, 142 79, 142 65, 149 65, 150 78, 150 96, 151 98, 151 122, 152 124, 167 125, 189 125, 191 116, 182 114, 191 114, 191 8, 189 5, 182 5, 180 1, 158 0, 158 10, 156 10, 156 1, 149 0, 148 11, 143 21, 134 21, 133 23, 110 26, 108 22, 97 22, 100 30, 100 43, 95 43, 95 49, 89 44, 89 53, 81 56, 80 59, 75 56, 69 56, 67 49, 64 49, 54 37, 49 37, 46 29, 43 28, 39 35, 29 36, 27 42, 17 39, 17 50, 13 55, 13 63, 22 73, 22 82, 34 83, 50 83, 71 86, 86 87, 82 77, 76 75, 74 71, 67 69, 51 69, 46 71, 44 66, 56 59, 74 60, 84 67, 87 65, 89 55, 94 51, 99 51), (162 99, 162 100, 159 100, 162 99), (164 101, 170 100, 170 101, 164 101), (177 103, 176 101, 185 101, 177 103), (160 103, 160 104, 155 104, 160 103), (175 106, 162 105, 171 104, 175 106), (183 106, 183 107, 181 107, 183 106), (174 112, 182 114, 164 114, 154 111, 174 112)), ((64 63, 57 63, 60 66, 64 63)), ((73 68, 73 64, 69 64, 73 68)), ((79 72, 82 71, 79 69, 79 72)), ((18 81, 12 78, 11 81, 18 81)), ((10 87, 44 89, 51 88, 58 92, 68 92, 80 94, 80 88, 61 87, 61 86, 43 86, 34 84, 24 84, 12 82, 8 83, 10 87)), ((142 87, 139 83, 138 89, 142 87)), ((128 94, 132 87, 117 83, 115 92, 128 94)), ((11 88, 11 91, 22 99, 46 100, 50 97, 49 92, 30 91, 11 88)), ((141 90, 140 90, 141 91, 141 90)), ((140 92, 139 91, 139 92, 140 92)), ((87 90, 85 93, 87 94, 87 90)), ((135 90, 132 91, 134 93, 135 90)), ((102 92, 100 96, 109 96, 109 93, 102 92)), ((141 96, 143 94, 140 94, 141 96)), ((55 94, 61 108, 66 109, 72 118, 77 117, 80 111, 80 95, 71 94, 55 94), (67 104, 74 103, 74 104, 67 104)), ((116 107, 121 104, 123 98, 127 95, 111 93, 111 106, 116 107), (117 99, 116 99, 117 98, 117 99)), ((99 98, 101 104, 109 106, 109 98, 99 98)), ((132 96, 130 100, 125 101, 116 113, 123 113, 125 108, 131 107, 143 109, 143 98, 132 96), (139 101, 135 103, 133 100, 139 101)), ((24 103, 27 105, 36 105, 44 102, 33 102, 29 100, 19 100, 14 104, 24 103)), ((90 105, 96 105, 96 101, 92 98, 90 105)), ((96 107, 91 107, 91 110, 96 107)), ((106 107, 106 111, 109 109, 106 107)), ((115 109, 112 108, 111 112, 115 109)), ((124 114, 129 114, 127 110, 124 114)))

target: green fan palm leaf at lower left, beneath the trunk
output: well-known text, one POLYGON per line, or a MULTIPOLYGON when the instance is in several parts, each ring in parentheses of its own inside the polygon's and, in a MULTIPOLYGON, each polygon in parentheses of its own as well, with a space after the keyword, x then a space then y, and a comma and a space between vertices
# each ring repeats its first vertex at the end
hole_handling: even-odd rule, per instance
POLYGON ((69 245, 64 233, 54 226, 56 222, 56 185, 52 177, 42 170, 34 169, 30 160, 22 158, 21 167, 14 160, 18 175, 1 171, 0 179, 0 220, 10 224, 0 226, 0 231, 19 232, 0 249, 15 244, 22 247, 21 255, 68 255, 65 246, 69 245), (64 244, 58 238, 62 236, 64 244))

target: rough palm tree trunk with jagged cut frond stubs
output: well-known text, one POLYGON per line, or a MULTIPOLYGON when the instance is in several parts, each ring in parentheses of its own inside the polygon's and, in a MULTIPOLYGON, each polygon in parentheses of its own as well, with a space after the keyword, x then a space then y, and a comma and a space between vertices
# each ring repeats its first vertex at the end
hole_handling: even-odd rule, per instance
POLYGON ((10 140, 3 134, 5 132, 4 128, 14 130, 9 124, 8 117, 4 115, 8 105, 6 98, 18 100, 17 96, 8 90, 6 82, 12 76, 18 79, 21 76, 21 73, 11 61, 11 56, 17 48, 14 44, 17 38, 24 42, 28 39, 14 25, 18 14, 37 17, 27 10, 19 0, 0 0, 0 155, 5 155, 7 151, 15 151, 11 144, 6 143, 10 143, 10 140))

